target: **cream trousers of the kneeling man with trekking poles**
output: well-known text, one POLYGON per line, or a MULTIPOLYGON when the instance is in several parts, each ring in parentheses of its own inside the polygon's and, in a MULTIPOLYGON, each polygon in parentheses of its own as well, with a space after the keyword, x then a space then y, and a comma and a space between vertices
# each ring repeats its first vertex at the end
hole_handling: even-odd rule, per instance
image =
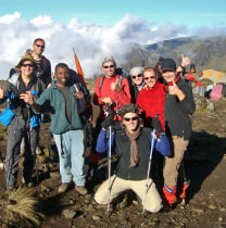
MULTIPOLYGON (((159 212, 162 207, 162 199, 155 188, 152 179, 149 179, 149 189, 146 197, 147 191, 146 187, 147 180, 125 180, 115 175, 111 177, 111 197, 110 202, 118 197, 122 192, 126 190, 133 190, 142 201, 142 205, 145 203, 145 208, 149 212, 155 213, 159 212)), ((105 180, 100 188, 97 190, 95 194, 95 200, 99 204, 108 204, 109 200, 109 180, 105 180)))

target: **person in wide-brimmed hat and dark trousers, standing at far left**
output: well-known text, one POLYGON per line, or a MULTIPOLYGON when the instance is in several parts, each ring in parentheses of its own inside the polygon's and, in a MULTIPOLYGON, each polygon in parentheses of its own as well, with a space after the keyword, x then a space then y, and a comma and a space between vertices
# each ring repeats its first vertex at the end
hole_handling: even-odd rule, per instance
POLYGON ((38 132, 40 116, 34 113, 30 105, 23 99, 28 93, 34 94, 37 99, 45 90, 43 83, 33 75, 37 68, 37 62, 32 55, 23 55, 15 66, 14 73, 0 88, 0 101, 9 101, 9 109, 12 111, 12 119, 8 126, 8 143, 5 157, 5 181, 7 191, 10 192, 16 187, 20 143, 22 137, 25 137, 25 154, 23 162, 23 181, 26 186, 32 187, 33 168, 35 166, 35 150, 38 142, 38 132))

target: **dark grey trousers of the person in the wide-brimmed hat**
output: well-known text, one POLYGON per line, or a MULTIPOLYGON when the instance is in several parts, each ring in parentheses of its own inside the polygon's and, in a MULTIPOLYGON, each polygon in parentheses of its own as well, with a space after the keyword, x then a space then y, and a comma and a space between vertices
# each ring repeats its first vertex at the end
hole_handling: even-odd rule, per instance
POLYGON ((25 154, 23 162, 23 177, 29 182, 35 166, 36 147, 38 143, 39 126, 30 128, 28 119, 15 116, 8 126, 8 144, 5 157, 5 181, 7 186, 16 185, 20 161, 20 149, 22 138, 25 137, 25 154))

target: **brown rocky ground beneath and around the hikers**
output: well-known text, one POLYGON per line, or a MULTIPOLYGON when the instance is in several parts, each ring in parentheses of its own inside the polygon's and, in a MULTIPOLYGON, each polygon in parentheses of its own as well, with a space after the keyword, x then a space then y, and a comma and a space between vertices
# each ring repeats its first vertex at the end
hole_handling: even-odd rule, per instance
MULTIPOLYGON (((39 185, 34 188, 40 200, 40 210, 46 214, 40 227, 226 227, 226 99, 214 102, 214 112, 197 111, 192 116, 193 134, 185 156, 186 173, 190 181, 186 205, 178 204, 172 211, 156 214, 143 214, 142 206, 131 192, 126 192, 118 199, 110 213, 106 207, 96 204, 93 194, 105 179, 105 159, 99 165, 101 177, 87 179, 88 195, 81 197, 73 188, 59 194, 61 181, 54 142, 51 141, 49 161, 49 123, 43 124, 40 144, 45 155, 37 157, 39 185)), ((0 139, 0 150, 4 157, 5 128, 1 127, 0 139)), ((7 227, 5 208, 9 201, 8 195, 3 194, 3 170, 0 170, 0 226, 7 227)), ((16 226, 26 227, 27 224, 22 221, 16 226)))

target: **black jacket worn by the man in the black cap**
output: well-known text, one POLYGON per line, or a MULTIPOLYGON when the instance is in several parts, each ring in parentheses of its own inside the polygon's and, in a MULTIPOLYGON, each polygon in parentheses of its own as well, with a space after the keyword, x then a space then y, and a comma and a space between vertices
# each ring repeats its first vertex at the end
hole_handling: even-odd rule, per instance
POLYGON ((176 85, 184 92, 185 99, 179 101, 176 96, 171 96, 166 92, 164 106, 166 134, 189 140, 191 135, 191 118, 189 114, 192 114, 196 110, 192 89, 181 78, 177 80, 176 85))

